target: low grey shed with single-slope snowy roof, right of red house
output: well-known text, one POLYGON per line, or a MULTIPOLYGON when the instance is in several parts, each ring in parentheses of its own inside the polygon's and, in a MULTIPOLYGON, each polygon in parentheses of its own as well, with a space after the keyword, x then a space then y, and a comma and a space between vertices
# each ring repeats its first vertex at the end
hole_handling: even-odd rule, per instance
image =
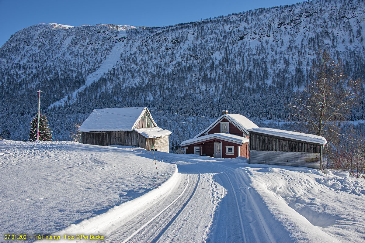
POLYGON ((324 137, 273 128, 253 128, 249 144, 250 164, 304 166, 322 169, 324 137))

